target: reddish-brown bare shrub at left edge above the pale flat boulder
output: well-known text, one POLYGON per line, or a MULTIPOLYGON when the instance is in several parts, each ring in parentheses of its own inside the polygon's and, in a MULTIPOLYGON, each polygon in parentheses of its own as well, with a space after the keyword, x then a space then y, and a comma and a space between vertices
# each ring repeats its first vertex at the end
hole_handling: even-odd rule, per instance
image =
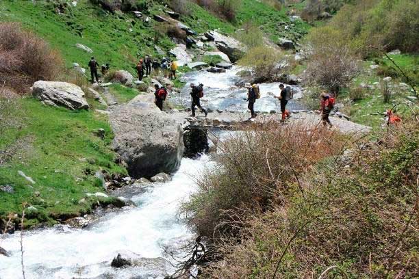
POLYGON ((0 23, 0 57, 0 82, 20 93, 34 81, 55 79, 63 68, 60 55, 18 23, 0 23))

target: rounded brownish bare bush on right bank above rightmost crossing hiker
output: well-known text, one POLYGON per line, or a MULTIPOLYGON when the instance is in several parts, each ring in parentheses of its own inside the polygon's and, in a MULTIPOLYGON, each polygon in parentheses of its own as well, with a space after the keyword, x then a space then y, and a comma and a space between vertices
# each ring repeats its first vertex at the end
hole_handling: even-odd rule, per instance
POLYGON ((321 85, 337 95, 360 72, 359 59, 348 47, 324 44, 309 57, 305 75, 308 83, 321 85))

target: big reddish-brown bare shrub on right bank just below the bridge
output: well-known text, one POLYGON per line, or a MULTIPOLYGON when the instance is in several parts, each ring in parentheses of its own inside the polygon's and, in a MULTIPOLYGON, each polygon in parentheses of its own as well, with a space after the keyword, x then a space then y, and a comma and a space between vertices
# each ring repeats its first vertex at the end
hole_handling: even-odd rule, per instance
POLYGON ((199 191, 183 213, 210 243, 238 236, 242 219, 305 191, 302 174, 342 146, 337 133, 303 125, 264 124, 257 131, 236 133, 221 144, 220 165, 198 181, 199 191))

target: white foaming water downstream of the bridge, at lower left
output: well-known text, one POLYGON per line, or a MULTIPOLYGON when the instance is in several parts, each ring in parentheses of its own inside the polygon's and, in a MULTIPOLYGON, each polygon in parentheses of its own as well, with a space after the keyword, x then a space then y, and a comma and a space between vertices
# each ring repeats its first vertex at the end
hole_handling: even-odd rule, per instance
MULTIPOLYGON (((177 209, 196 187, 191 176, 212 164, 207 156, 182 159, 173 181, 154 183, 144 194, 132 198, 138 207, 107 214, 86 229, 55 226, 26 232, 26 278, 163 278, 164 270, 153 265, 113 269, 110 261, 119 251, 159 260, 165 257, 162 246, 176 247, 193 237, 178 220, 177 209)), ((22 277, 19 239, 20 233, 15 233, 1 243, 12 254, 0 258, 1 279, 22 277)), ((164 269, 170 272, 171 266, 164 262, 164 269)))

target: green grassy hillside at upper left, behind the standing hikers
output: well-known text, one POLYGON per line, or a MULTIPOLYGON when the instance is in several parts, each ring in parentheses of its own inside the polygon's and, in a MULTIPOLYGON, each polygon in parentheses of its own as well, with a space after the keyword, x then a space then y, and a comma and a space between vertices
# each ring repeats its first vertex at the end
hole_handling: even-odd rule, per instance
POLYGON ((89 1, 78 1, 71 13, 60 15, 55 14, 51 3, 44 1, 34 4, 5 0, 0 2, 0 18, 0 21, 20 22, 45 38, 62 53, 67 66, 77 62, 87 68, 93 55, 99 64, 110 63, 112 69, 126 69, 135 74, 137 54, 157 57, 155 44, 165 51, 174 46, 166 37, 155 42, 153 21, 148 25, 131 14, 110 14, 89 1), (76 43, 90 47, 93 53, 77 49, 76 43))

